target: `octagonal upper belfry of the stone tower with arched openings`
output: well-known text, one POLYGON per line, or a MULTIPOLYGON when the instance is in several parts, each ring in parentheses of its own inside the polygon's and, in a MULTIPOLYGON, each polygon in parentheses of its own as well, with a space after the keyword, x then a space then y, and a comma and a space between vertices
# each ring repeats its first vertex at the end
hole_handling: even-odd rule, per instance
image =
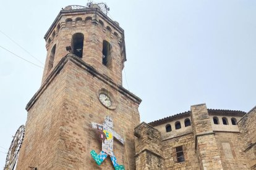
POLYGON ((62 57, 72 53, 122 85, 126 62, 124 30, 107 12, 107 6, 99 4, 62 8, 44 37, 48 52, 42 84, 62 57))

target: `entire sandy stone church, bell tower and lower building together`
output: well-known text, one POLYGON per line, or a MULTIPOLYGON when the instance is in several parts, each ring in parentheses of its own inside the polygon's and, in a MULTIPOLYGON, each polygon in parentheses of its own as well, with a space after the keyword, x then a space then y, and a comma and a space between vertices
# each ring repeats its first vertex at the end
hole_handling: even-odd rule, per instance
POLYGON ((62 9, 45 40, 16 169, 256 169, 256 108, 140 123, 142 100, 122 87, 124 30, 97 4, 62 9))

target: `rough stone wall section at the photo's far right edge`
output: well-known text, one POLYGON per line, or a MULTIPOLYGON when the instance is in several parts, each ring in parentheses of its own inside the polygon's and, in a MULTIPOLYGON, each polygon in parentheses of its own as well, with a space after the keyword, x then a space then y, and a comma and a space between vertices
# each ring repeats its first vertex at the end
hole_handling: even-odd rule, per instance
POLYGON ((238 122, 238 126, 244 140, 242 150, 247 155, 250 168, 256 169, 256 107, 238 122))

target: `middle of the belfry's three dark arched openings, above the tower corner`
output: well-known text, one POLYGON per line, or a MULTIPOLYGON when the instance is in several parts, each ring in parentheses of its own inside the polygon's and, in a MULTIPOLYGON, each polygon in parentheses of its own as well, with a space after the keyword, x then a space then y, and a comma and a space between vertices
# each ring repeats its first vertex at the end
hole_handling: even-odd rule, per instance
POLYGON ((83 38, 82 33, 75 33, 72 36, 71 49, 73 54, 77 55, 79 58, 83 56, 83 38))

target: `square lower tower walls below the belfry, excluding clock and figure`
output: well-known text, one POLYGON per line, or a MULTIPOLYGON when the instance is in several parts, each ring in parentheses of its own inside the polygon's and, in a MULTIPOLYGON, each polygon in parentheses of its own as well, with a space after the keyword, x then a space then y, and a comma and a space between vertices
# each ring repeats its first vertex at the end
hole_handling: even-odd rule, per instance
POLYGON ((90 156, 91 150, 101 151, 90 123, 102 124, 107 115, 113 118, 114 131, 126 140, 125 145, 114 140, 117 163, 135 169, 134 127, 140 123, 140 100, 122 87, 107 84, 103 75, 75 56, 62 59, 58 68, 53 71, 57 76, 46 80, 46 89, 29 103, 17 169, 114 169, 110 158, 98 166, 90 156), (116 108, 110 110, 100 103, 101 89, 118 101, 116 108))

